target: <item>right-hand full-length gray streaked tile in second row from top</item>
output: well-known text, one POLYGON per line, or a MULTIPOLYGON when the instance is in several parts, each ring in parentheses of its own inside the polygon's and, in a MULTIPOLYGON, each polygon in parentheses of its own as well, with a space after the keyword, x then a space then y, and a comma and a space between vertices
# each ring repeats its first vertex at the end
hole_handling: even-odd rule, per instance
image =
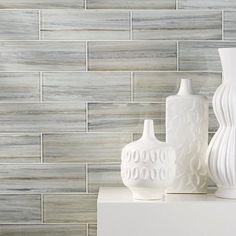
POLYGON ((133 39, 221 39, 220 11, 135 11, 133 39))

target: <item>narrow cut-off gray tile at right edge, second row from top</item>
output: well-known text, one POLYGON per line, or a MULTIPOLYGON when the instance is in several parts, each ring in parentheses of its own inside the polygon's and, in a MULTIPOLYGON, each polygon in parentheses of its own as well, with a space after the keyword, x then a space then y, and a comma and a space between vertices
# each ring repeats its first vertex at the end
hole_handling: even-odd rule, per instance
POLYGON ((236 11, 224 12, 224 39, 236 39, 236 11))

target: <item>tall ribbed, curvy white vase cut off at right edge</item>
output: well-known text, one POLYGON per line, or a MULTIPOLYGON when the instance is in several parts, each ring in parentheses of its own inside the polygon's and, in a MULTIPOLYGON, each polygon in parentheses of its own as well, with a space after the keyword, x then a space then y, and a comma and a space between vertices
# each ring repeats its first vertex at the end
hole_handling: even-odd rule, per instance
POLYGON ((208 166, 217 197, 236 199, 236 48, 219 49, 223 82, 213 97, 219 129, 208 148, 208 166))

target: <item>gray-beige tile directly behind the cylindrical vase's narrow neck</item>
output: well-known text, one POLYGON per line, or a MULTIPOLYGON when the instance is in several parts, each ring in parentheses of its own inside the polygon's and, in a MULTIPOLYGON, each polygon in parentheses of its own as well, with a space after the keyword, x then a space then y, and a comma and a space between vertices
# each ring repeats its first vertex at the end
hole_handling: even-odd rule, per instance
POLYGON ((221 84, 221 73, 207 72, 136 72, 134 73, 134 100, 165 102, 166 97, 177 92, 180 79, 190 78, 195 93, 212 100, 221 84))

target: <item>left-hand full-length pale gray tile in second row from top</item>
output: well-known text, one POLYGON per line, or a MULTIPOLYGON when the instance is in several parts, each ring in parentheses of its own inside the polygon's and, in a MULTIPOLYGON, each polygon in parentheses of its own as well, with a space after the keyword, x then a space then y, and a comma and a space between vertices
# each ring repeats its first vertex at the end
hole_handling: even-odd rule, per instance
POLYGON ((43 10, 43 39, 129 39, 129 13, 43 10))

